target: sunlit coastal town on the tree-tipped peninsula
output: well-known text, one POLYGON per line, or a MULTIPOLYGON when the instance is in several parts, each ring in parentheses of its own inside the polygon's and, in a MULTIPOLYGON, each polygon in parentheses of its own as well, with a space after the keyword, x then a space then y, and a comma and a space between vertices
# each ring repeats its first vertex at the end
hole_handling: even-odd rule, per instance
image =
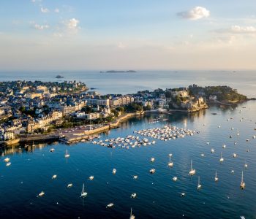
POLYGON ((191 85, 165 91, 158 88, 127 95, 101 95, 76 81, 0 82, 0 143, 13 145, 48 138, 75 142, 116 128, 121 120, 145 112, 196 112, 207 109, 208 103, 245 99, 227 86, 191 85))

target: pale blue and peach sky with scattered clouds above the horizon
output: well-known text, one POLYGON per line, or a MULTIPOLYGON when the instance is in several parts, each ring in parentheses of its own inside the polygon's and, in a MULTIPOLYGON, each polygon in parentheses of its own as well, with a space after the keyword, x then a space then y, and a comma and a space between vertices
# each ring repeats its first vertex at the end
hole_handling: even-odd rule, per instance
POLYGON ((255 0, 0 1, 0 71, 254 70, 255 0))

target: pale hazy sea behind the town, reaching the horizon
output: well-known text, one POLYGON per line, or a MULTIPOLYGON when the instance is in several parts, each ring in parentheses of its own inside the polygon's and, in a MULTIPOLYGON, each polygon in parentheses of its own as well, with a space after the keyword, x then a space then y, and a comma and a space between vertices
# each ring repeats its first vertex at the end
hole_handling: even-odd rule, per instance
POLYGON ((218 71, 140 71, 137 73, 91 72, 0 72, 1 80, 80 80, 90 88, 97 88, 102 94, 137 93, 137 91, 157 88, 177 88, 197 85, 229 85, 246 96, 256 96, 256 72, 218 71), (65 78, 57 80, 57 74, 65 78), (100 78, 100 80, 99 80, 100 78))

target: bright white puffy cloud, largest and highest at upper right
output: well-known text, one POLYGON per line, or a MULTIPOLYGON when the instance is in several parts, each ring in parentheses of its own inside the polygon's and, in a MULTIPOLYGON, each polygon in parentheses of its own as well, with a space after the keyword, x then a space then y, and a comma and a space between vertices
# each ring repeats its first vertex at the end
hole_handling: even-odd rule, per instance
POLYGON ((199 20, 201 18, 208 18, 210 11, 205 7, 197 6, 186 12, 178 12, 177 15, 184 19, 199 20))

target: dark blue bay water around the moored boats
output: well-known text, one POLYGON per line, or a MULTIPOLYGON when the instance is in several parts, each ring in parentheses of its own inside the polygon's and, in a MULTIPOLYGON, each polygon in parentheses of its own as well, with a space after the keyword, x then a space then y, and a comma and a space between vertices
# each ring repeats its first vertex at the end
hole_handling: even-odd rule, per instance
MULTIPOLYGON (((200 134, 167 142, 157 140, 156 145, 129 150, 91 142, 38 145, 34 151, 6 150, 12 165, 5 166, 1 157, 1 218, 129 218, 130 207, 135 218, 256 218, 256 139, 252 139, 256 134, 256 102, 248 101, 229 112, 213 107, 193 115, 165 115, 173 126, 200 134), (233 120, 227 121, 230 117, 233 120), (225 149, 223 144, 227 145, 225 149), (49 152, 51 147, 55 148, 53 153, 49 152), (215 149, 213 154, 211 147, 215 149), (68 159, 64 158, 66 149, 70 153, 68 159), (225 159, 222 164, 221 152, 225 159), (167 167, 169 153, 173 153, 171 169, 167 167), (233 158, 233 153, 238 158, 233 158), (150 162, 151 157, 156 159, 154 163, 150 162), (197 171, 193 177, 188 175, 190 159, 197 171), (112 174, 113 168, 117 169, 116 175, 112 174), (156 169, 153 175, 148 172, 151 168, 156 169), (242 170, 244 191, 239 188, 242 170), (215 171, 218 183, 214 182, 215 171), (53 174, 58 175, 56 180, 51 180, 53 174), (138 174, 138 180, 132 179, 134 174, 138 174), (93 181, 88 180, 90 175, 94 175, 93 181), (203 188, 197 191, 199 175, 203 188), (174 176, 178 177, 176 182, 172 180, 174 176), (68 183, 73 187, 67 189, 68 183), (83 183, 88 196, 80 199, 83 183), (45 191, 45 196, 37 198, 40 191, 45 191), (181 192, 187 195, 181 197, 181 192), (131 193, 138 197, 131 199, 131 193), (115 206, 107 210, 105 206, 110 202, 115 206)), ((148 123, 156 117, 132 118, 121 128, 101 134, 101 139, 126 137, 135 130, 165 126, 166 121, 148 123)))

